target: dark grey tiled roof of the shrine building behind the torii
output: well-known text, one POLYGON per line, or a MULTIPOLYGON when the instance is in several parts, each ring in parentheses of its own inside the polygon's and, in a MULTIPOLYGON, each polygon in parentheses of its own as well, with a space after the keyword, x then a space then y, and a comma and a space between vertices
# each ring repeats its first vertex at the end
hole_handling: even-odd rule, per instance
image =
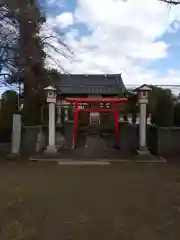
POLYGON ((61 75, 57 84, 64 94, 116 95, 125 91, 121 74, 61 75))

